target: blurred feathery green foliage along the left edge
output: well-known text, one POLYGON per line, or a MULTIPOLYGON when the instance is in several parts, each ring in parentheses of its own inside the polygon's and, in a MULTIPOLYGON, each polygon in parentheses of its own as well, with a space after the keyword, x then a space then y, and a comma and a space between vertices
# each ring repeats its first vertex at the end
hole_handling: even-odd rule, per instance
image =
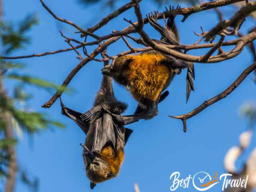
MULTIPOLYGON (((29 14, 18 24, 0 22, 1 54, 8 56, 8 54, 24 48, 30 42, 26 32, 37 23, 35 14, 29 14)), ((61 87, 28 74, 20 74, 25 67, 19 62, 0 59, 0 176, 2 177, 7 176, 6 166, 10 160, 6 148, 18 144, 15 138, 5 138, 4 130, 7 126, 12 126, 18 136, 23 133, 38 133, 51 126, 64 128, 64 124, 52 120, 47 114, 33 111, 27 107, 32 94, 24 89, 25 86, 36 86, 46 91, 53 91, 61 87), (16 86, 13 86, 12 91, 8 88, 8 94, 4 90, 4 78, 5 82, 10 79, 18 82, 16 86)), ((21 179, 29 188, 37 191, 37 179, 29 180, 24 172, 21 172, 21 179)))

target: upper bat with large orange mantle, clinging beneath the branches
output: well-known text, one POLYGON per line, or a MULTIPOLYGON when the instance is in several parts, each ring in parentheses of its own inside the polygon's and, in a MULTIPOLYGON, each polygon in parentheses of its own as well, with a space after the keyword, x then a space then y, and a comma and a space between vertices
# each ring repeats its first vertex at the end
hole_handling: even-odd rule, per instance
MULTIPOLYGON (((177 7, 179 9, 179 7, 177 7)), ((168 11, 168 9, 166 8, 168 11)), ((174 22, 174 8, 169 10, 172 16, 168 18, 165 27, 157 22, 158 12, 149 14, 148 21, 160 32, 162 44, 179 45, 178 30, 174 22)), ((187 101, 190 91, 194 91, 194 64, 158 51, 146 51, 141 54, 129 54, 116 59, 113 66, 102 68, 102 74, 113 77, 114 80, 130 90, 132 96, 139 102, 134 115, 115 116, 118 122, 129 124, 139 119, 150 119, 158 114, 157 106, 160 94, 168 87, 176 74, 187 68, 187 101)))

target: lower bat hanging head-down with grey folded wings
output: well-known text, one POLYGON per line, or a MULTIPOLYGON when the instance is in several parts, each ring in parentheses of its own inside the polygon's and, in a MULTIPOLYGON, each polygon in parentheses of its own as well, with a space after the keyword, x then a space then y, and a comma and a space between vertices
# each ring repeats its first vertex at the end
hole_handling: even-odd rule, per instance
MULTIPOLYGON (((102 53, 105 56, 106 50, 102 53)), ((116 100, 112 79, 103 76, 93 108, 84 114, 67 108, 62 101, 61 107, 62 114, 74 120, 86 134, 85 144, 81 146, 91 189, 96 183, 116 177, 124 160, 124 145, 133 131, 113 118, 122 114, 127 105, 116 100)))

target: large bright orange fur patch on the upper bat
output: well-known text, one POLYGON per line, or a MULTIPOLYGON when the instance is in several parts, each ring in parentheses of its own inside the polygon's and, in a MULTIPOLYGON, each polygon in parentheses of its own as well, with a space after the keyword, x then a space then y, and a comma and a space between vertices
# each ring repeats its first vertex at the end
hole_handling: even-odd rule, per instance
POLYGON ((156 101, 170 76, 170 69, 161 62, 162 54, 139 54, 132 57, 128 81, 132 96, 140 101, 144 98, 156 101))

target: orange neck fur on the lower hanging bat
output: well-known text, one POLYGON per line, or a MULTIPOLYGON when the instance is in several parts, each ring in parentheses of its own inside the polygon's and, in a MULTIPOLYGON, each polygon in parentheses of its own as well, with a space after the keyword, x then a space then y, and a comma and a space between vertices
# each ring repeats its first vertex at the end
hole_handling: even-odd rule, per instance
POLYGON ((124 151, 122 149, 119 150, 116 156, 114 149, 111 146, 107 146, 102 149, 100 155, 108 162, 112 174, 117 175, 124 161, 124 151))

